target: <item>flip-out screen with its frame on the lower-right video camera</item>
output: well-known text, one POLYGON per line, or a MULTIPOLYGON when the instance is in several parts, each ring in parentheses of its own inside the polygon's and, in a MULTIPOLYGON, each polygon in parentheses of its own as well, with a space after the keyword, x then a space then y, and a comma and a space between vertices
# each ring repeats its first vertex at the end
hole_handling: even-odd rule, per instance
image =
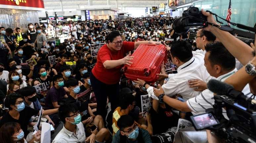
POLYGON ((202 130, 207 127, 220 124, 220 122, 218 121, 218 119, 216 119, 212 112, 190 116, 190 118, 196 130, 202 130))

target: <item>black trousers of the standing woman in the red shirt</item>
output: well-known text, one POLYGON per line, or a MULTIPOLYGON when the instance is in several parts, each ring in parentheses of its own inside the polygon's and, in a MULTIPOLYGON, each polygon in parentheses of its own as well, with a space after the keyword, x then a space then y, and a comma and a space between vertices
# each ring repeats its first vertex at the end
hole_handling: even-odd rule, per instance
POLYGON ((111 110, 114 111, 116 107, 118 106, 118 100, 119 100, 119 91, 120 86, 119 83, 116 84, 106 84, 98 79, 93 75, 91 72, 90 75, 90 81, 92 84, 92 88, 97 100, 97 114, 101 115, 104 119, 104 122, 106 122, 106 106, 107 106, 107 97, 109 99, 109 102, 111 103, 111 110))

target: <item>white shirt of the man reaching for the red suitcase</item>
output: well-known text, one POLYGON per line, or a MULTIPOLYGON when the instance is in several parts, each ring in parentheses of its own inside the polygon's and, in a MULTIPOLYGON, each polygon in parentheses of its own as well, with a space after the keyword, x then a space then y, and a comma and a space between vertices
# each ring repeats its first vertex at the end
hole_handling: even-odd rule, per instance
MULTIPOLYGON (((184 100, 188 100, 200 93, 189 87, 189 80, 199 79, 207 83, 212 79, 204 66, 204 55, 200 53, 194 54, 189 61, 178 67, 177 72, 177 74, 169 75, 168 82, 162 85, 165 95, 169 97, 179 94, 184 100)), ((149 97, 154 96, 151 90, 153 88, 147 90, 149 97)))

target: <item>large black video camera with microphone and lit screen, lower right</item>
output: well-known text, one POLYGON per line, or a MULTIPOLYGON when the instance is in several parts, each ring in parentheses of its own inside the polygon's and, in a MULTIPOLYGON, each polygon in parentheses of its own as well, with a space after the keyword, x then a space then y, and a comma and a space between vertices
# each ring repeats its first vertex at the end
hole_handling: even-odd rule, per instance
POLYGON ((256 100, 246 97, 232 85, 210 80, 207 87, 214 96, 213 108, 191 116, 196 130, 208 129, 228 143, 256 142, 256 100), (225 107, 229 120, 223 116, 225 107))

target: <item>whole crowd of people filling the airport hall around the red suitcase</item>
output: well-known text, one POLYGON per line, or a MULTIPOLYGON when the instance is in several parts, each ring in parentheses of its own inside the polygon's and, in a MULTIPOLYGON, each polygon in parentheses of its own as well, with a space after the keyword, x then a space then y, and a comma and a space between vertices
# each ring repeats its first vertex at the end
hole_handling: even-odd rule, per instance
MULTIPOLYGON (((190 120, 212 108, 210 79, 252 98, 256 73, 245 67, 256 66, 256 44, 250 47, 213 26, 191 40, 172 29, 175 18, 50 21, 29 23, 27 31, 0 27, 0 142, 39 143, 42 127, 33 127, 38 120, 55 128, 53 143, 157 142, 152 135, 174 131, 179 118, 190 120), (59 45, 47 41, 57 35, 67 38, 59 45), (93 57, 90 45, 98 43, 105 44, 93 57), (131 54, 140 44, 164 44, 177 72, 166 73, 163 63, 156 83, 127 79, 121 68, 133 64, 131 54), (48 57, 54 55, 52 63, 48 57), (150 99, 147 113, 142 95, 150 99)), ((207 137, 211 142, 211 132, 207 137)))

